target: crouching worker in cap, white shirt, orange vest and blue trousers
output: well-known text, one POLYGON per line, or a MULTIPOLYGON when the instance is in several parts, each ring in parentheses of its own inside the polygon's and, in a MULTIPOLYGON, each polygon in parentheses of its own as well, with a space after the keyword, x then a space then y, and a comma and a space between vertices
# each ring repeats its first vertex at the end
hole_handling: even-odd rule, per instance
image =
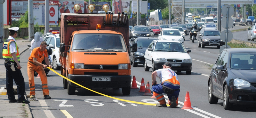
POLYGON ((159 104, 156 107, 167 107, 164 95, 166 93, 172 108, 178 106, 178 99, 180 93, 180 82, 178 81, 178 75, 172 70, 172 64, 166 62, 163 65, 163 69, 158 69, 154 71, 151 75, 152 77, 152 90, 153 94, 156 96, 156 100, 159 104), (161 84, 156 83, 156 77, 159 77, 161 84))

